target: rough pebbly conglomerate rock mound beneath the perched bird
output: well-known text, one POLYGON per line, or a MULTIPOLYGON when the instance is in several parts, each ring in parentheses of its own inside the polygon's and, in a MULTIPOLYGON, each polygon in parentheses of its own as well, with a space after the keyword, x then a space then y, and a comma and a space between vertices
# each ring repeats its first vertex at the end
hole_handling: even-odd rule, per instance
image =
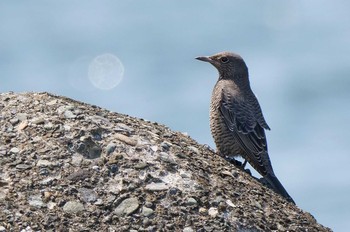
POLYGON ((0 112, 0 231, 330 231, 163 125, 47 93, 0 112))

